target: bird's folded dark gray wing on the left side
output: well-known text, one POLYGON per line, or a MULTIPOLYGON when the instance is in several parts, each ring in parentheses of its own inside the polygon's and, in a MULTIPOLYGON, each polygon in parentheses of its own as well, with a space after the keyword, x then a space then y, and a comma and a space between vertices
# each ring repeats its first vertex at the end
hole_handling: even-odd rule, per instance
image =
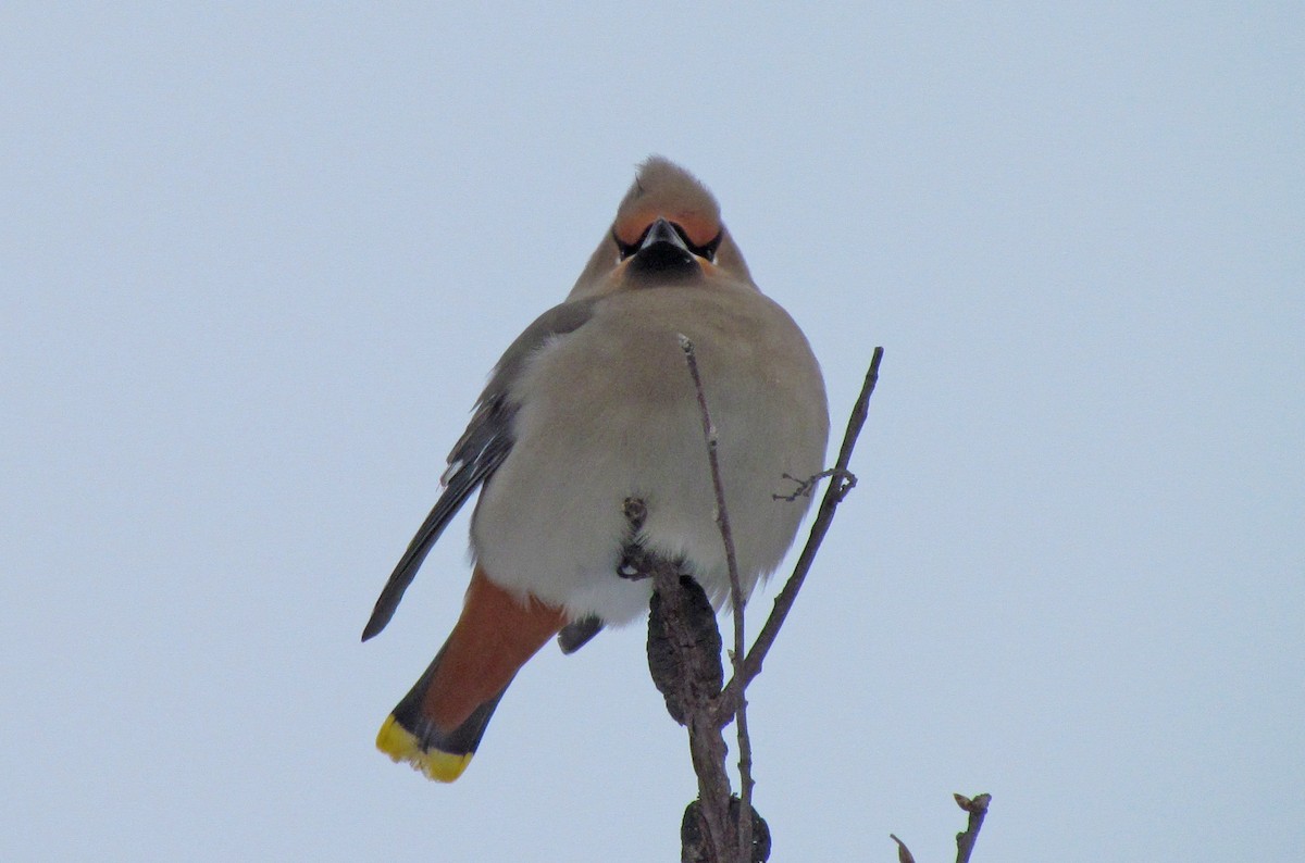
POLYGON ((553 306, 526 327, 499 360, 489 378, 489 386, 476 402, 467 430, 449 454, 449 469, 441 477, 444 494, 435 502, 431 515, 425 516, 422 528, 412 537, 407 551, 399 558, 398 566, 381 589, 372 617, 363 628, 364 641, 377 635, 390 622, 403 598, 403 592, 412 584, 422 561, 444 533, 444 528, 471 493, 493 475, 512 451, 512 420, 518 407, 513 400, 513 386, 531 356, 549 339, 582 327, 592 315, 594 302, 595 300, 583 300, 553 306))

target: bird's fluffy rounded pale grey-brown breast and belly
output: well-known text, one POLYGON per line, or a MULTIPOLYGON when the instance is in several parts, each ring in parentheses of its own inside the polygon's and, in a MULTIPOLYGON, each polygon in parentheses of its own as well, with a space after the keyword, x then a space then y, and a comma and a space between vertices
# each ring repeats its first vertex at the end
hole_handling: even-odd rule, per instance
POLYGON ((622 505, 636 497, 647 508, 638 538, 684 558, 709 593, 723 596, 724 548, 680 334, 694 343, 716 430, 740 575, 750 585, 778 564, 805 503, 775 495, 792 490, 786 473, 820 471, 825 403, 801 334, 782 312, 771 319, 778 306, 757 299, 743 304, 744 314, 726 315, 710 296, 642 295, 599 308, 540 348, 513 394, 513 450, 482 491, 472 524, 474 551, 491 578, 576 617, 637 617, 650 587, 616 575, 633 538, 622 505), (778 360, 761 349, 776 339, 778 360))

